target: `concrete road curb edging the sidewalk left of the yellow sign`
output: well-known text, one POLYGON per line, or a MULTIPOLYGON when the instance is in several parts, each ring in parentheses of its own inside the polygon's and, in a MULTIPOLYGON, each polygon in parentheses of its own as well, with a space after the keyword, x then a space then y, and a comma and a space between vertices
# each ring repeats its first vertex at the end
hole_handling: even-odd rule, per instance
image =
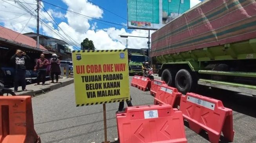
POLYGON ((42 93, 48 92, 48 91, 52 91, 54 89, 58 89, 58 88, 62 88, 64 86, 67 86, 69 84, 74 83, 74 79, 67 79, 66 81, 57 83, 57 84, 50 84, 50 85, 46 85, 46 86, 41 86, 38 87, 37 89, 34 90, 28 90, 28 91, 22 91, 22 92, 18 92, 16 93, 16 95, 20 96, 20 95, 29 95, 31 97, 35 97, 38 96, 42 93))

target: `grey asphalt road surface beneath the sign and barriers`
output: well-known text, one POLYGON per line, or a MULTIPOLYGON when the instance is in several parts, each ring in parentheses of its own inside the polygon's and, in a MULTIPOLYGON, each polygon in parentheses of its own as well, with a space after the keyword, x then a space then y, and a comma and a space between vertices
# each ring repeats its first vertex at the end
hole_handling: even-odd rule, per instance
MULTIPOLYGON (((130 77, 131 79, 131 77, 130 77)), ((149 91, 131 87, 133 105, 153 105, 149 91)), ((256 143, 256 97, 234 93, 215 93, 211 89, 198 93, 223 101, 225 107, 233 109, 234 143, 256 143)), ((34 127, 42 143, 101 143, 104 140, 103 106, 76 107, 74 84, 32 98, 34 127)), ((106 104, 107 138, 111 143, 117 138, 115 112, 118 103, 106 104)), ((207 134, 196 134, 187 127, 185 133, 189 143, 209 143, 207 134)), ((222 143, 227 143, 221 137, 222 143)))

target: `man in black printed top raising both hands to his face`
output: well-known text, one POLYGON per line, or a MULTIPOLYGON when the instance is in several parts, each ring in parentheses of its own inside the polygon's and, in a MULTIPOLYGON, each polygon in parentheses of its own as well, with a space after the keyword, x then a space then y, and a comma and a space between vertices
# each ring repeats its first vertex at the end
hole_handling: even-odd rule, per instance
POLYGON ((26 64, 29 62, 29 56, 22 50, 16 50, 15 55, 11 57, 11 62, 14 63, 14 92, 18 91, 18 84, 21 82, 22 90, 26 89, 26 64))

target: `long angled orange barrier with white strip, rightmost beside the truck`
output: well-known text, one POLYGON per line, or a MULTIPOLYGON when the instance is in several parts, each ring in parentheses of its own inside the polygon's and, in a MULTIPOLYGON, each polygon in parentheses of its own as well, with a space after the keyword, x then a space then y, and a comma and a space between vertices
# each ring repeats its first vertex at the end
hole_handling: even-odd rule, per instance
POLYGON ((225 108, 222 101, 187 93, 181 97, 180 111, 189 122, 190 129, 198 134, 202 129, 207 131, 212 143, 219 142, 221 132, 225 138, 233 141, 232 110, 225 108))

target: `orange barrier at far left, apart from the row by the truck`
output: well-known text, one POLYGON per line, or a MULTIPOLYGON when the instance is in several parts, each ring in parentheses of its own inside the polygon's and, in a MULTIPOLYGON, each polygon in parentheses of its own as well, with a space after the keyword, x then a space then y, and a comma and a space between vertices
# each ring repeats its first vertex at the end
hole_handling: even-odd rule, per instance
POLYGON ((40 143, 30 96, 0 97, 0 143, 40 143))

